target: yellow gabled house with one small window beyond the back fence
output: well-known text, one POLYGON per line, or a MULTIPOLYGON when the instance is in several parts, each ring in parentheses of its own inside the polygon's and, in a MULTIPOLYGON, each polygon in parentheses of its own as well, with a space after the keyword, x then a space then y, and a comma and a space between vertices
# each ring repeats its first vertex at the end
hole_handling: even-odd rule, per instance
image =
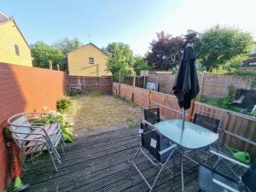
POLYGON ((95 44, 85 44, 67 54, 68 73, 77 76, 104 76, 108 55, 95 44))

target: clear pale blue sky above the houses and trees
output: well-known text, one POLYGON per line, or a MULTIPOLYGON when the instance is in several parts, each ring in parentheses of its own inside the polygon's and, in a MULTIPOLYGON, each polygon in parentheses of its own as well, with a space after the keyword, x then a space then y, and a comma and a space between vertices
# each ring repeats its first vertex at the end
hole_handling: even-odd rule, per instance
POLYGON ((131 45, 144 55, 156 32, 203 32, 210 26, 239 27, 256 36, 254 0, 0 0, 29 44, 79 38, 100 48, 111 42, 131 45))

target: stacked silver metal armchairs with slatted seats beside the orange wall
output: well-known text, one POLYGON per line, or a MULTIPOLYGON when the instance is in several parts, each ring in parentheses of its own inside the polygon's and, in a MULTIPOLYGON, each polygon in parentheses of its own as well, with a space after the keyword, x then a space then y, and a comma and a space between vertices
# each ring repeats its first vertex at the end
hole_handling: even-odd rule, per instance
POLYGON ((50 113, 19 113, 8 119, 9 129, 15 143, 20 148, 20 160, 23 163, 26 160, 27 154, 34 154, 38 151, 47 150, 50 159, 55 166, 55 160, 61 164, 61 156, 57 151, 57 146, 62 144, 64 146, 64 139, 62 137, 60 124, 55 119, 44 119, 44 115, 53 115, 50 113), (45 123, 32 123, 33 121, 46 121, 45 123), (54 155, 54 156, 53 156, 54 155), (55 157, 55 160, 54 160, 55 157))

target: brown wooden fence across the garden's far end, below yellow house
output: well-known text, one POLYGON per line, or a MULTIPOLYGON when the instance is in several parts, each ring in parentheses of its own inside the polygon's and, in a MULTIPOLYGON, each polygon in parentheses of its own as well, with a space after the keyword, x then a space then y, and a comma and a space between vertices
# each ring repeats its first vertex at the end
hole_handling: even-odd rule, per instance
POLYGON ((112 90, 112 77, 85 77, 85 76, 70 76, 65 78, 65 85, 78 86, 81 85, 81 89, 86 92, 101 91, 103 93, 110 93, 112 90))

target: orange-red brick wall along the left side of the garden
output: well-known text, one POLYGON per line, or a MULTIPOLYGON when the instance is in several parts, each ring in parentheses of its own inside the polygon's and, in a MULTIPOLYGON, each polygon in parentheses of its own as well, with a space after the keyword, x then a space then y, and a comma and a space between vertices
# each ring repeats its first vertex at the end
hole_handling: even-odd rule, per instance
POLYGON ((0 63, 0 191, 10 182, 8 151, 3 138, 6 120, 15 113, 55 110, 64 96, 64 73, 0 63))

